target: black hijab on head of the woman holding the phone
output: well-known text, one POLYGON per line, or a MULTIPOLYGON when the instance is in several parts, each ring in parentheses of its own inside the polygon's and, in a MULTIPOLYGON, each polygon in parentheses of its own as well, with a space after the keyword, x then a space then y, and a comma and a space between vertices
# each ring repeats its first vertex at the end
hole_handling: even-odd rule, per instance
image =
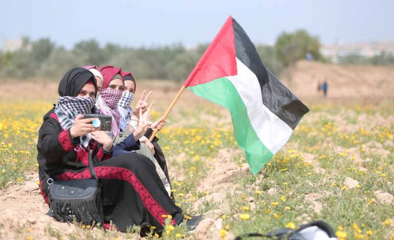
POLYGON ((71 68, 60 80, 58 90, 60 97, 76 97, 78 95, 78 92, 82 89, 83 85, 85 85, 86 82, 89 80, 93 81, 94 86, 97 89, 96 78, 91 73, 91 71, 82 67, 71 68))

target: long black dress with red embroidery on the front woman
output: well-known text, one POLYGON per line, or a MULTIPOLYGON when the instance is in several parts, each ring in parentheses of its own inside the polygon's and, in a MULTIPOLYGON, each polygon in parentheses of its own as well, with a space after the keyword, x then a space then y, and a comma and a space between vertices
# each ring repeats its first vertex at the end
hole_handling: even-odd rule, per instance
MULTIPOLYGON (((91 178, 87 169, 87 152, 75 151, 78 138, 63 130, 53 110, 43 118, 37 143, 37 161, 55 180, 91 178)), ((104 221, 126 231, 133 225, 155 226, 163 230, 162 215, 172 215, 172 223, 183 220, 182 210, 174 204, 157 175, 155 165, 140 154, 122 154, 112 157, 97 142, 89 144, 94 169, 102 184, 104 221)), ((48 203, 48 184, 39 173, 41 194, 48 203)))

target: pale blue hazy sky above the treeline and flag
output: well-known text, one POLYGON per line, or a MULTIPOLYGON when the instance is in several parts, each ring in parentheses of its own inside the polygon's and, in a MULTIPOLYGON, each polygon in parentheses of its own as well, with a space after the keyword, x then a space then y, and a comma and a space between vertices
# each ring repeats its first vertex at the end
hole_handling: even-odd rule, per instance
POLYGON ((92 38, 150 47, 210 42, 231 14, 255 43, 305 29, 322 43, 394 40, 392 0, 2 0, 3 38, 49 37, 68 49, 92 38))

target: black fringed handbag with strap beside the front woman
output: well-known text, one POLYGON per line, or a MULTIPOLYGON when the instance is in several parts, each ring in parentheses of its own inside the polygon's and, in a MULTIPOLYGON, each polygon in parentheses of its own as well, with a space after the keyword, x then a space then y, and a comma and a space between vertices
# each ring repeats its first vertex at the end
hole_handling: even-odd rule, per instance
POLYGON ((89 170, 91 179, 75 179, 54 181, 49 175, 41 171, 48 178, 48 199, 51 217, 60 222, 73 222, 84 225, 94 225, 103 222, 103 206, 101 201, 100 182, 94 171, 92 155, 89 149, 89 170))

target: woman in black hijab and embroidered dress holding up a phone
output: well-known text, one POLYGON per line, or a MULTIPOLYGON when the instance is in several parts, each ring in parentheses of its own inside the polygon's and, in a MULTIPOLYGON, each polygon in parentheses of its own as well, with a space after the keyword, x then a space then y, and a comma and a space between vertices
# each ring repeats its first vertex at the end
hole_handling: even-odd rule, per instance
MULTIPOLYGON (((72 68, 59 83, 57 105, 44 117, 39 129, 37 161, 40 166, 41 194, 48 203, 45 171, 55 181, 88 179, 88 148, 92 152, 94 170, 99 178, 104 222, 113 222, 126 231, 133 225, 154 226, 163 231, 165 218, 181 224, 182 209, 169 198, 155 165, 141 154, 125 153, 113 156, 113 140, 92 125, 93 119, 82 119, 95 105, 97 83, 84 68, 72 68)), ((138 131, 149 126, 140 114, 138 131)), ((197 219, 188 221, 194 228, 197 219)), ((106 225, 104 225, 106 226, 106 225)))

